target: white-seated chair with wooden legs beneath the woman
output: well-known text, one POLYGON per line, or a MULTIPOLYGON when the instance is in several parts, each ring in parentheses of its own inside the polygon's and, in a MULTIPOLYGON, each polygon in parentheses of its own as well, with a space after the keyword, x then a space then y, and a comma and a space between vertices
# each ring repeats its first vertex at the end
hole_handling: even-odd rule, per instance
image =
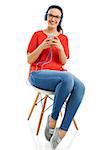
MULTIPOLYGON (((33 112, 35 106, 36 106, 40 101, 44 100, 43 106, 42 106, 42 110, 41 110, 41 114, 40 114, 40 118, 39 118, 39 122, 38 122, 37 131, 36 131, 36 135, 38 135, 38 134, 39 134, 39 130, 40 130, 40 126, 41 126, 41 122, 42 122, 42 118, 43 118, 43 114, 44 114, 45 107, 46 107, 47 98, 52 99, 49 95, 54 95, 54 92, 52 92, 52 91, 46 91, 46 90, 43 90, 43 89, 39 89, 39 88, 37 88, 37 87, 35 87, 35 86, 32 86, 32 87, 34 87, 34 89, 37 91, 37 95, 36 95, 36 98, 35 98, 35 100, 34 100, 34 103, 33 103, 33 106, 32 106, 32 108, 31 108, 31 111, 30 111, 30 113, 29 113, 28 120, 30 119, 30 117, 31 117, 31 115, 32 115, 32 112, 33 112), (39 98, 39 96, 40 96, 41 94, 45 94, 45 97, 44 97, 43 99, 41 99, 41 100, 38 102, 38 98, 39 98)), ((52 100, 53 100, 53 99, 52 99, 52 100)), ((62 116, 62 113, 61 113, 61 112, 60 112, 60 114, 61 114, 61 116, 62 116)), ((74 118, 73 118, 73 123, 74 123, 74 125, 75 125, 76 130, 78 130, 78 126, 77 126, 76 121, 75 121, 74 118)))

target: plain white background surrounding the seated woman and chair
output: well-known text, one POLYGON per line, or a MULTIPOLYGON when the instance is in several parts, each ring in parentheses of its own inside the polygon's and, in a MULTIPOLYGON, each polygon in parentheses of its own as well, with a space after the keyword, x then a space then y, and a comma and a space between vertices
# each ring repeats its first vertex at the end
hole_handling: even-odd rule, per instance
POLYGON ((34 112, 33 119, 27 121, 35 93, 26 84, 29 70, 26 49, 33 32, 46 27, 44 15, 52 4, 58 4, 64 10, 62 27, 69 39, 71 55, 65 68, 78 76, 86 86, 83 102, 75 116, 79 126, 78 134, 73 138, 75 128, 71 126, 61 149, 100 149, 99 0, 3 0, 0 1, 2 150, 50 150, 44 138, 49 112, 44 115, 38 137, 35 136, 35 127, 41 106, 34 112))

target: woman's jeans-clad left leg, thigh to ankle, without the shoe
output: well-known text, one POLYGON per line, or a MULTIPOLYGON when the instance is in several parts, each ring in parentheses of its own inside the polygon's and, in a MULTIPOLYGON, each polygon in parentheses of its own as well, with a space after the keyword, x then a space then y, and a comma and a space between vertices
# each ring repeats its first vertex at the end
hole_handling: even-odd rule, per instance
POLYGON ((32 72, 29 79, 31 84, 36 87, 55 91, 51 117, 57 120, 62 105, 73 90, 72 74, 66 71, 40 70, 32 72))

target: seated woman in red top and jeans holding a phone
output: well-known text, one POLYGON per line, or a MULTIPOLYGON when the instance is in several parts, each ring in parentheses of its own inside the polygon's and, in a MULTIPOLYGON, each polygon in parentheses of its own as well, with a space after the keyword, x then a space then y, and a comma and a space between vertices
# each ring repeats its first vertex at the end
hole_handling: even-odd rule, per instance
POLYGON ((84 84, 63 68, 69 58, 69 49, 67 36, 61 33, 62 18, 62 8, 50 6, 45 15, 47 28, 33 34, 27 50, 30 83, 55 91, 52 113, 45 128, 45 137, 53 149, 67 133, 85 91, 84 84), (61 126, 56 128, 59 112, 68 96, 61 126))

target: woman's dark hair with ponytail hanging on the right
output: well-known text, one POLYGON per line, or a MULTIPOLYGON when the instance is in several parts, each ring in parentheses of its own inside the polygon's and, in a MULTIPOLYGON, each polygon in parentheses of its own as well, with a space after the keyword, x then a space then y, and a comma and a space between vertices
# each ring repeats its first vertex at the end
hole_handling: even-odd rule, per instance
POLYGON ((58 24, 58 26, 57 26, 57 31, 58 31, 58 32, 62 31, 62 33, 63 33, 63 29, 62 29, 62 27, 61 27, 61 22, 62 22, 62 18, 63 18, 63 10, 62 10, 62 8, 61 8, 60 6, 58 6, 58 5, 51 5, 51 6, 49 6, 49 8, 47 9, 46 14, 45 14, 45 20, 47 20, 48 11, 49 11, 50 9, 52 9, 52 8, 59 9, 60 12, 61 12, 61 19, 60 19, 59 24, 58 24))

